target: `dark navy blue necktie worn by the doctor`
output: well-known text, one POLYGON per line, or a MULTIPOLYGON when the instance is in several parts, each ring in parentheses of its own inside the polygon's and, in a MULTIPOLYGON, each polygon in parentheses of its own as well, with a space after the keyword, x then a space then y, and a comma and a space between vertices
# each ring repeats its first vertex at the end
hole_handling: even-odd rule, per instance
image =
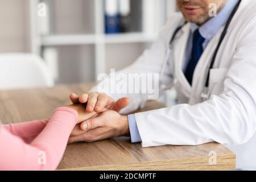
POLYGON ((199 29, 197 29, 193 34, 193 47, 191 52, 191 59, 188 62, 187 68, 185 70, 185 77, 187 78, 190 85, 192 85, 193 74, 196 68, 196 64, 198 63, 204 49, 203 43, 204 38, 201 36, 199 29))

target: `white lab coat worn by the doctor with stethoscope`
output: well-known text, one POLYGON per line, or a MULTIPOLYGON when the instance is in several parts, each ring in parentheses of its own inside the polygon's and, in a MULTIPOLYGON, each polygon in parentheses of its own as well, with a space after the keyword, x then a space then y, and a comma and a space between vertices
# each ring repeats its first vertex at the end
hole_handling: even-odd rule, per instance
MULTIPOLYGON (((134 64, 121 73, 159 73, 168 43, 184 21, 172 16, 158 40, 134 64)), ((179 34, 168 61, 163 82, 177 78, 179 105, 135 114, 142 146, 197 145, 216 141, 237 155, 237 168, 256 169, 256 1, 243 0, 230 24, 228 34, 210 70, 210 99, 202 102, 208 65, 223 28, 209 42, 194 72, 191 87, 184 76, 185 48, 190 32, 186 24, 179 34)), ((93 90, 96 90, 94 88, 93 90)), ((160 93, 163 93, 160 88, 160 93)), ((110 94, 115 99, 130 97, 129 112, 143 107, 143 94, 110 94)))

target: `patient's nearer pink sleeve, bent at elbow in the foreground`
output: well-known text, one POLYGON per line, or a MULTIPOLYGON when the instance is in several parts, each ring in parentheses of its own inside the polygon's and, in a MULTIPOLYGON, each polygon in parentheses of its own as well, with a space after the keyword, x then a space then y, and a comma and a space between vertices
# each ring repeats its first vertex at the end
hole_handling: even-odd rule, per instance
POLYGON ((76 110, 59 107, 30 144, 0 127, 0 170, 56 169, 76 122, 76 110))

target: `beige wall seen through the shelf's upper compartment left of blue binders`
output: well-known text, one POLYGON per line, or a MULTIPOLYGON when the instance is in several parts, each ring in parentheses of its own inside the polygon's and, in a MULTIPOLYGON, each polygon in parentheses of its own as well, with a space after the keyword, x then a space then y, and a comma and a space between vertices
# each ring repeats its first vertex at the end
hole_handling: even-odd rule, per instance
POLYGON ((93 34, 94 0, 51 1, 53 34, 93 34))

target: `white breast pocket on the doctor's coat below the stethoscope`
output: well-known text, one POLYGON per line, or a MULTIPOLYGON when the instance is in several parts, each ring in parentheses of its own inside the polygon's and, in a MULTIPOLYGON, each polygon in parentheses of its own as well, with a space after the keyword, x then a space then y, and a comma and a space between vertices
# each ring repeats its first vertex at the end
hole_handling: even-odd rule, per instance
POLYGON ((210 69, 209 91, 210 96, 218 95, 224 90, 224 81, 228 68, 210 69))

